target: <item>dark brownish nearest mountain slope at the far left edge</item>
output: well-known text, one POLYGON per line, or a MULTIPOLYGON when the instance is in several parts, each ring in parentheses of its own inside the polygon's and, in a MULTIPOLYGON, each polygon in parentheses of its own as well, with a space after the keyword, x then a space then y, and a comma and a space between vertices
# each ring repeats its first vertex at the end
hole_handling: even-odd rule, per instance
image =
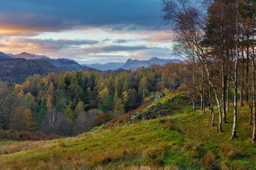
POLYGON ((23 58, 1 58, 0 79, 8 83, 23 83, 34 74, 46 76, 50 72, 62 72, 65 69, 55 67, 44 60, 25 60, 23 58))

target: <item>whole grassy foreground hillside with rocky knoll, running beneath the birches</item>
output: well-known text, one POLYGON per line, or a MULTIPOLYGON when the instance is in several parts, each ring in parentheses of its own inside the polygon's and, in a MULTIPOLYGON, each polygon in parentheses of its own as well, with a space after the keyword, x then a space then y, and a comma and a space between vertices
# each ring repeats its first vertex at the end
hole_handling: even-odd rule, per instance
POLYGON ((210 128, 208 111, 191 113, 186 93, 167 94, 136 114, 151 115, 150 111, 165 111, 169 115, 152 120, 138 118, 130 124, 134 117, 131 112, 77 137, 0 142, 0 153, 6 153, 0 157, 0 169, 256 168, 247 106, 238 110, 238 138, 232 141, 232 113, 228 113, 228 123, 219 134, 218 127, 210 128))

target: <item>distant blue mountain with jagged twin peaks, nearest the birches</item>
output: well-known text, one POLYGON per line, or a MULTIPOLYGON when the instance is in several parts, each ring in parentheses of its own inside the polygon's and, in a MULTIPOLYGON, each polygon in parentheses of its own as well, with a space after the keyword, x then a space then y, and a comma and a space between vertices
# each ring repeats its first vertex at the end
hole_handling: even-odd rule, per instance
POLYGON ((150 67, 152 64, 160 64, 160 65, 165 65, 169 62, 179 62, 182 63, 182 60, 179 59, 160 59, 157 57, 152 57, 150 60, 127 60, 125 64, 121 67, 122 69, 138 69, 140 67, 150 67))

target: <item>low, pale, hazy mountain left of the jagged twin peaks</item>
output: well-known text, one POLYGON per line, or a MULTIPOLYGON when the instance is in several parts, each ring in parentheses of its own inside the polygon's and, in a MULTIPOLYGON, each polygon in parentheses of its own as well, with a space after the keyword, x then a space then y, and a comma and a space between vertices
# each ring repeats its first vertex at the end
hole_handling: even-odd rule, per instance
POLYGON ((124 62, 108 62, 106 64, 82 64, 83 66, 99 69, 101 71, 115 70, 123 66, 124 62))

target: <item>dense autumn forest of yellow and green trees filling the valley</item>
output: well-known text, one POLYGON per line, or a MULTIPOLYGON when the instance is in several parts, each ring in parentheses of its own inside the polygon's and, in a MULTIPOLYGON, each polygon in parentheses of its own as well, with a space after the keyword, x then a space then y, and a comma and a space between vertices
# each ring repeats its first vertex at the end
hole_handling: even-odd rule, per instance
POLYGON ((1 129, 78 135, 177 89, 189 77, 191 65, 175 63, 119 74, 35 74, 23 84, 0 84, 1 129))

